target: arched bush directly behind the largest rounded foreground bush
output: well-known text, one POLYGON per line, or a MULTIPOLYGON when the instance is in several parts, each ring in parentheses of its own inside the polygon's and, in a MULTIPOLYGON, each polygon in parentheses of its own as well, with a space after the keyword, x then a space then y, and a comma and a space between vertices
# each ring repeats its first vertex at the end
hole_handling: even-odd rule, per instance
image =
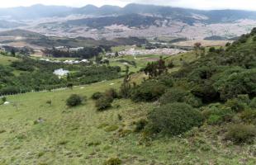
POLYGON ((187 104, 198 107, 201 106, 200 99, 192 96, 191 93, 184 91, 180 88, 171 88, 168 92, 164 93, 159 99, 161 104, 168 104, 173 102, 186 102, 187 104))

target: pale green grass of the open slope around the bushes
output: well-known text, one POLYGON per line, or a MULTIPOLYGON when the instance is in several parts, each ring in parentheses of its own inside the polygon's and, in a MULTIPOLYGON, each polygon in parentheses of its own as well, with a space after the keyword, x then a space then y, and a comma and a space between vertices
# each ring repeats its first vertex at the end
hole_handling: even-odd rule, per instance
MULTIPOLYGON (((181 55, 184 60, 194 59, 192 53, 181 55)), ((177 66, 170 72, 177 70, 180 56, 168 59, 177 66)), ((145 63, 144 59, 140 62, 145 63)), ((144 77, 137 73, 132 81, 140 82, 144 77)), ((116 79, 73 90, 7 97, 11 104, 0 106, 0 164, 97 165, 109 158, 135 165, 256 163, 254 146, 224 144, 222 134, 217 134, 219 126, 203 126, 179 138, 144 139, 133 130, 135 122, 154 108, 151 103, 121 99, 102 112, 96 110, 92 100, 74 108, 65 106, 73 93, 89 98, 94 92, 118 88, 121 82, 116 79)))

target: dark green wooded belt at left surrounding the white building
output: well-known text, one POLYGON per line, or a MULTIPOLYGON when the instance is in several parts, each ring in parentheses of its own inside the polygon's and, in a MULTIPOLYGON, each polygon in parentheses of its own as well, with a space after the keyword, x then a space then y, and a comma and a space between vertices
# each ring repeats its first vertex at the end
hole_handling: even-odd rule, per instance
POLYGON ((51 90, 68 85, 82 85, 121 77, 121 68, 105 65, 50 63, 23 57, 10 66, 0 65, 0 95, 51 90), (64 68, 71 73, 59 78, 55 69, 64 68), (19 73, 15 75, 14 73, 19 73))

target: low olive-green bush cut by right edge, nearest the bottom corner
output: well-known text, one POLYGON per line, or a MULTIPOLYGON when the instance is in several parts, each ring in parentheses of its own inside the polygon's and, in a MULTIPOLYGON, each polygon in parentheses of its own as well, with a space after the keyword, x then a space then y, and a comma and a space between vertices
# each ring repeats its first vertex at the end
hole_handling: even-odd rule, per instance
POLYGON ((254 125, 232 125, 225 134, 225 139, 235 144, 251 143, 256 135, 254 125))

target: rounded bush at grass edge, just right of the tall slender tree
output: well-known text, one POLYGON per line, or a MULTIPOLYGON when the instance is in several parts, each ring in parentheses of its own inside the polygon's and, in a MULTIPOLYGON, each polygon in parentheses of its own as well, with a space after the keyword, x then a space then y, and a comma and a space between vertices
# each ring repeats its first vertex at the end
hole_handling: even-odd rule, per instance
POLYGON ((154 80, 143 82, 140 86, 133 88, 131 99, 133 101, 157 101, 166 91, 167 87, 154 80))

